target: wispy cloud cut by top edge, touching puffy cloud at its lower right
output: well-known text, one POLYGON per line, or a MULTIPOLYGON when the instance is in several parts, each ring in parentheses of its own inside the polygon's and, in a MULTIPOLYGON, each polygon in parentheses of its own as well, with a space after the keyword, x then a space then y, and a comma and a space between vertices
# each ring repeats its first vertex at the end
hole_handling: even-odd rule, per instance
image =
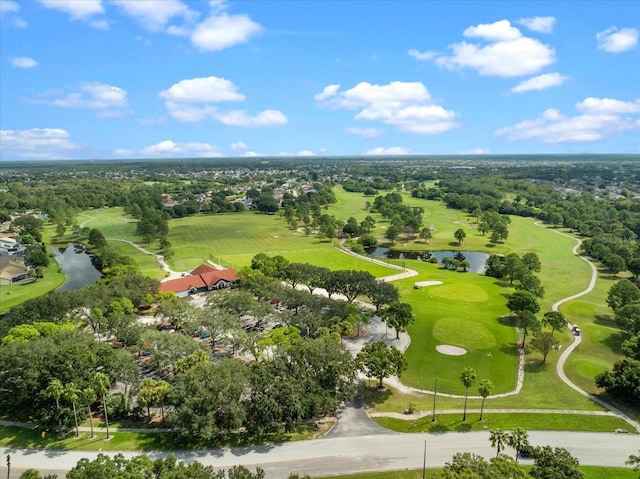
POLYGON ((174 17, 186 20, 195 18, 192 11, 180 0, 112 0, 124 13, 134 18, 147 30, 157 32, 164 30, 174 17))

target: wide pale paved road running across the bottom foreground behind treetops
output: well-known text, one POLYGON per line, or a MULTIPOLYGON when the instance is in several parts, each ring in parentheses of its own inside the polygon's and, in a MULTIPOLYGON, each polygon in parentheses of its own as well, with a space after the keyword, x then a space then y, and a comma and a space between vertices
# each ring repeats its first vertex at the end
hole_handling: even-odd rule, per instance
MULTIPOLYGON (((530 431, 533 445, 565 447, 583 465, 624 467, 630 454, 637 454, 640 437, 615 433, 530 431)), ((427 467, 441 467, 458 451, 495 455, 490 447, 489 432, 446 434, 375 434, 354 437, 325 437, 282 445, 265 445, 208 451, 176 452, 185 461, 198 460, 216 468, 244 464, 250 469, 262 467, 268 479, 284 479, 290 472, 319 475, 419 469, 422 467, 426 441, 427 467)), ((507 454, 513 454, 507 449, 507 454)), ((0 477, 5 473, 4 458, 11 454, 11 478, 29 467, 58 474, 70 469, 82 457, 94 458, 96 452, 42 451, 0 448, 3 459, 0 477)), ((126 457, 134 454, 125 452, 126 457)), ((159 457, 160 453, 151 454, 159 457)))

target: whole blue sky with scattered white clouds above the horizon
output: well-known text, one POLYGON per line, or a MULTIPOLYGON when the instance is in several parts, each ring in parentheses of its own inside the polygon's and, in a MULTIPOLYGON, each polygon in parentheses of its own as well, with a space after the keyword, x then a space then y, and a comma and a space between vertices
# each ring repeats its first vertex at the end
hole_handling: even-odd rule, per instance
POLYGON ((640 152, 637 1, 0 0, 0 159, 640 152))

